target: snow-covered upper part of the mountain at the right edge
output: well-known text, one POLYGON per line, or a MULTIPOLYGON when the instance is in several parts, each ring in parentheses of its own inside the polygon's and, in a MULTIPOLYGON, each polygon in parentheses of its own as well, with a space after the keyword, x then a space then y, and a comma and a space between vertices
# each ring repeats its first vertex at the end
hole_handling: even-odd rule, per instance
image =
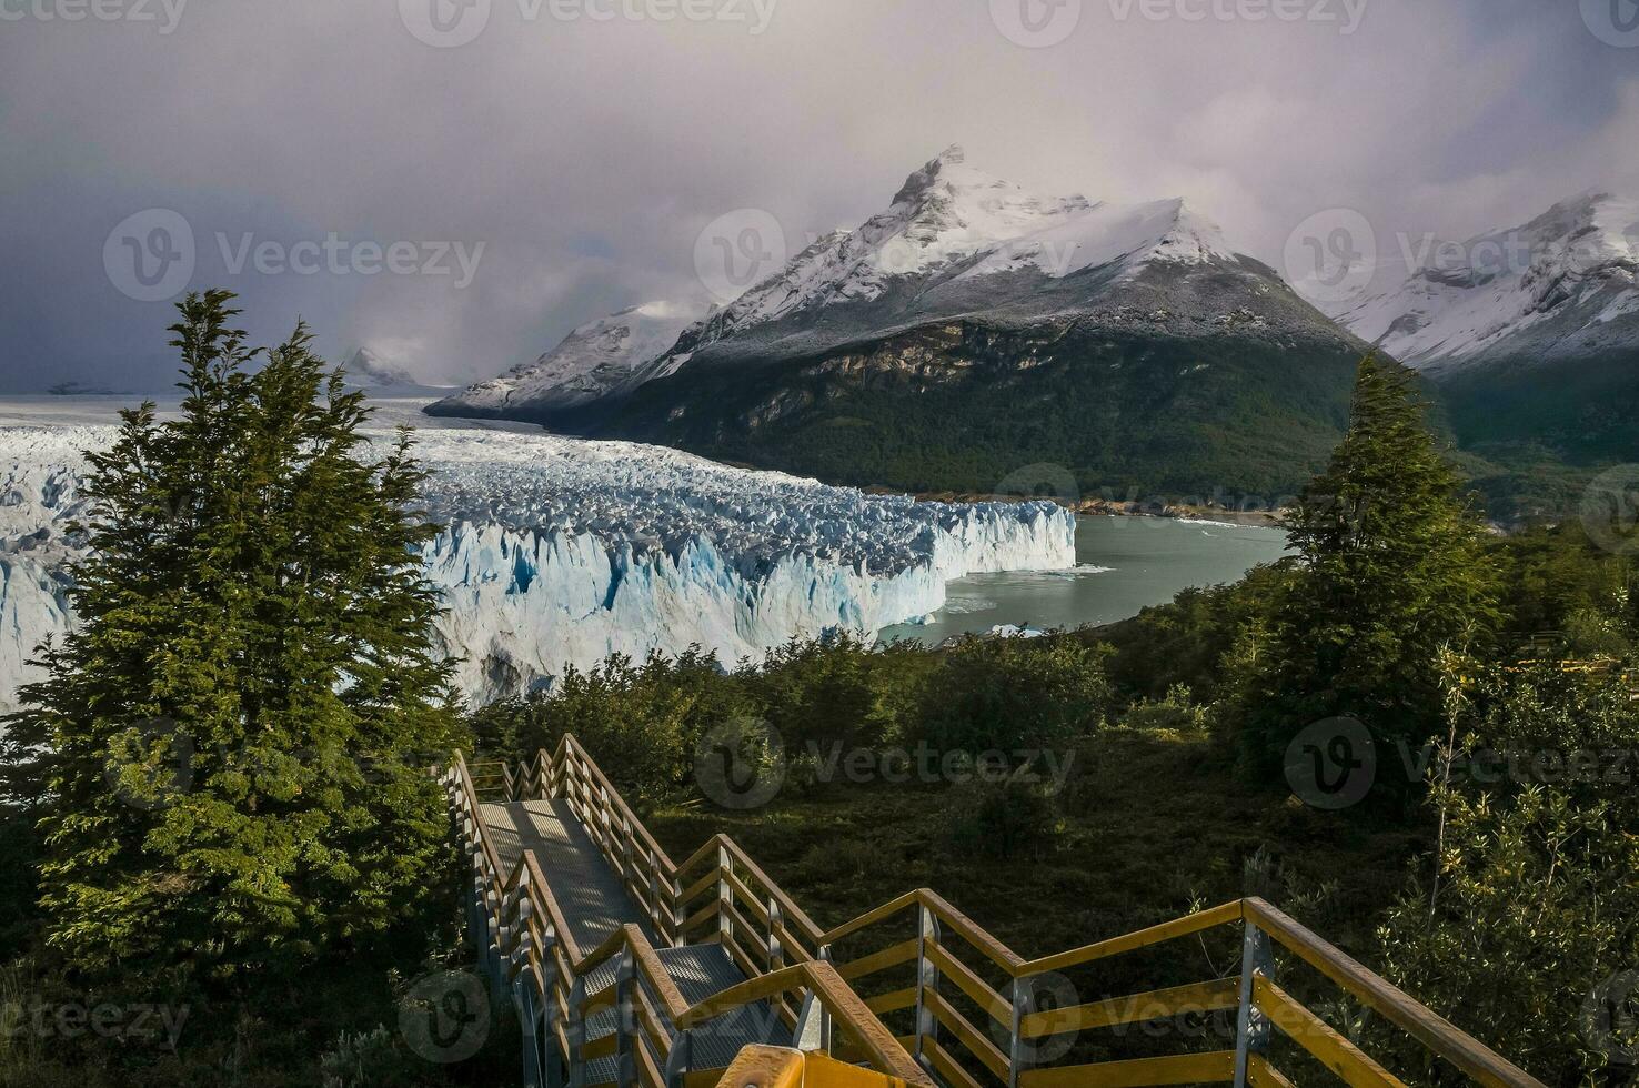
POLYGON ((1587 192, 1523 226, 1431 246, 1405 283, 1339 320, 1432 370, 1639 351, 1639 202, 1587 192))

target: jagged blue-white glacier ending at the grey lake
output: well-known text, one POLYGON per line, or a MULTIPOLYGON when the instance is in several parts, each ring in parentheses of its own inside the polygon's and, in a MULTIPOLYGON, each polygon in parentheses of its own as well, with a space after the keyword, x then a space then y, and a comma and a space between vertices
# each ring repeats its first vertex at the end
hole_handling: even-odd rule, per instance
MULTIPOLYGON (((656 446, 421 424, 423 501, 443 528, 420 559, 472 703, 616 652, 698 646, 731 665, 792 637, 872 637, 938 611, 954 578, 1075 565, 1075 518, 1052 503, 916 501, 656 446)), ((0 709, 38 675, 36 646, 74 623, 82 451, 113 437, 0 426, 0 709)))

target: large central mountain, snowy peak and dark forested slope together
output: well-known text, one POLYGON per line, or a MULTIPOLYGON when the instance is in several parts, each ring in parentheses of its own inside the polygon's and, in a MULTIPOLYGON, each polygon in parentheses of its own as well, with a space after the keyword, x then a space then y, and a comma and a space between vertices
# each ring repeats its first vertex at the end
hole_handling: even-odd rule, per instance
POLYGON ((1290 493, 1364 346, 1182 200, 1047 198, 951 149, 577 424, 852 483, 1290 493))

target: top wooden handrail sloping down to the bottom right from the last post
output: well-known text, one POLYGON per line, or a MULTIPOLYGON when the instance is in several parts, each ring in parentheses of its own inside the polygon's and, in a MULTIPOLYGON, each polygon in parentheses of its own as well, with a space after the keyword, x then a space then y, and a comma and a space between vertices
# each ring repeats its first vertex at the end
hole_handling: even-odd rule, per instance
POLYGON ((1473 1080, 1488 1088, 1544 1088, 1542 1081, 1264 900, 1244 900, 1242 906, 1249 923, 1473 1080))

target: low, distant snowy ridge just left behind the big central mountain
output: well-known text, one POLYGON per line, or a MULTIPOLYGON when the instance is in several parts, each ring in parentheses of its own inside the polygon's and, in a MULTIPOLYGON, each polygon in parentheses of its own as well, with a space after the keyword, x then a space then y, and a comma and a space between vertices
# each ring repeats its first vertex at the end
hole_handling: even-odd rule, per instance
POLYGON ((470 385, 426 411, 439 416, 551 415, 610 392, 665 354, 706 315, 705 301, 651 301, 582 324, 534 362, 470 385))

